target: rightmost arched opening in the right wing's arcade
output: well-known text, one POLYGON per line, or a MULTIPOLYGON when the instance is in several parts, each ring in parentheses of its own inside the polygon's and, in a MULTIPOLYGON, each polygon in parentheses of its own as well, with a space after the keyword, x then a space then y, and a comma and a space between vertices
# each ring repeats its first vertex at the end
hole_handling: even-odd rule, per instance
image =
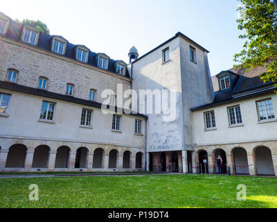
POLYGON ((272 160, 271 150, 265 146, 255 149, 255 164, 258 175, 274 175, 274 164, 272 160))

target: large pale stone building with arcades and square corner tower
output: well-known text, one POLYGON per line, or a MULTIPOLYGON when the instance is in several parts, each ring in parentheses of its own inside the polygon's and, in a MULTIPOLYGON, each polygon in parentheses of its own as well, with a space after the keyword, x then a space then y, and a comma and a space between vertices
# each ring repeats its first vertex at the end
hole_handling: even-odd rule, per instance
POLYGON ((277 175, 277 95, 258 78, 265 69, 211 78, 207 55, 177 33, 141 57, 133 46, 127 65, 0 13, 0 171, 277 175), (119 103, 118 85, 152 90, 155 112, 135 112, 144 95, 119 112, 134 94, 119 103), (176 104, 154 92, 165 89, 176 104))

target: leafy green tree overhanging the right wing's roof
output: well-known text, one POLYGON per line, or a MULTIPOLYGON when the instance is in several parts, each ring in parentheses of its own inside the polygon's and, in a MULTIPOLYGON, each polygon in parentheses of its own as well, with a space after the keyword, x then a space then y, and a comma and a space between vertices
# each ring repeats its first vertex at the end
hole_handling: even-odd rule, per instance
POLYGON ((276 0, 238 0, 240 18, 238 29, 244 31, 239 37, 246 40, 234 61, 247 71, 254 67, 267 67, 260 76, 264 82, 273 82, 277 87, 277 10, 276 0))

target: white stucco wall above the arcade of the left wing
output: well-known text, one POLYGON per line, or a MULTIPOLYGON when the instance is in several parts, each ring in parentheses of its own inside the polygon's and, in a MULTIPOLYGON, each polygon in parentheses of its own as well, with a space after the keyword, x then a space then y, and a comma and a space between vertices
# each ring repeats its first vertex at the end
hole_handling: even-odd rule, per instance
MULTIPOLYGON (((45 99, 30 94, 21 94, 0 89, 11 94, 8 108, 9 117, 0 117, 0 137, 22 137, 34 139, 64 140, 73 142, 91 142, 114 144, 118 146, 144 147, 144 136, 134 135, 135 119, 122 115, 122 133, 111 132, 112 114, 102 114, 100 109, 66 103, 54 99, 45 99), (39 122, 42 101, 51 101, 55 105, 55 123, 39 122), (93 110, 91 128, 80 128, 82 108, 93 110)), ((142 132, 144 133, 144 119, 142 132)), ((1 144, 0 144, 1 146, 1 144)))

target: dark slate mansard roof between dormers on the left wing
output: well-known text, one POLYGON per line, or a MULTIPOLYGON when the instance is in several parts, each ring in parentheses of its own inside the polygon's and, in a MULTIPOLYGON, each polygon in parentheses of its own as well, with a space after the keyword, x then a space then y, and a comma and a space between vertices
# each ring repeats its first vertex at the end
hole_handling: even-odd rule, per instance
MULTIPOLYGON (((2 13, 2 12, 0 12, 0 13, 2 13)), ((5 14, 3 14, 3 15, 5 15, 5 14)), ((22 31, 23 31, 23 25, 19 24, 18 22, 14 21, 14 20, 11 20, 9 27, 8 27, 8 31, 6 33, 6 37, 8 37, 12 40, 21 41, 22 31)), ((34 47, 38 47, 40 49, 52 52, 51 51, 52 39, 53 39, 53 37, 57 37, 57 36, 59 36, 59 35, 48 35, 46 33, 39 33, 39 40, 38 40, 37 46, 34 46, 34 47)), ((59 36, 59 37, 62 37, 62 36, 59 36)), ((64 37, 62 37, 62 38, 64 38, 64 37)), ((71 44, 70 42, 67 42, 65 54, 64 55, 57 54, 57 55, 64 56, 66 58, 70 58, 72 60, 76 60, 76 58, 75 58, 76 46, 82 46, 82 45, 75 45, 75 44, 71 44)), ((98 67, 98 64, 96 62, 97 55, 98 55, 98 53, 89 51, 89 60, 86 64, 91 65, 93 67, 98 67)), ((112 60, 111 58, 109 58, 109 62, 108 62, 109 67, 107 67, 107 71, 111 71, 111 72, 117 74, 116 66, 114 65, 116 62, 117 62, 117 60, 112 60)), ((120 74, 117 74, 117 75, 121 76, 120 74)), ((127 69, 126 69, 125 77, 130 78, 129 72, 127 69)))

